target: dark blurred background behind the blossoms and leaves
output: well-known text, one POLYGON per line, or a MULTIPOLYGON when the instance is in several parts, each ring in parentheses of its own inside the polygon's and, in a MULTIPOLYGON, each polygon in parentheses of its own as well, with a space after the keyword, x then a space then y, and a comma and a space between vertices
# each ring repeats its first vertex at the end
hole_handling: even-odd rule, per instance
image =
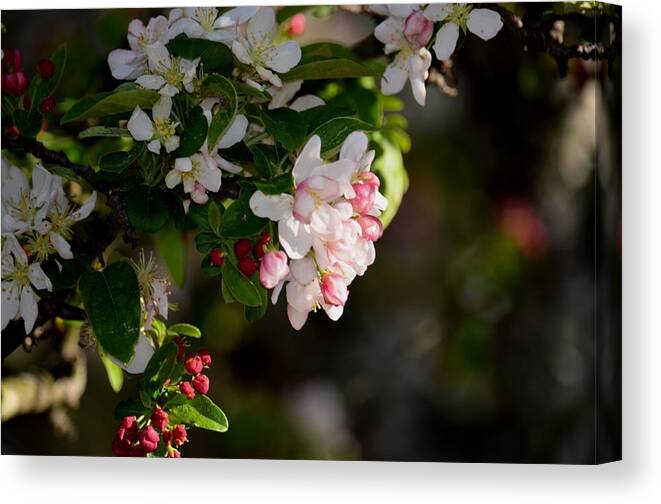
MULTIPOLYGON (((2 46, 36 62, 66 41, 59 97, 80 97, 116 85, 107 53, 131 19, 161 12, 3 11, 2 46)), ((309 18, 301 43, 370 30, 340 12, 309 18)), ((594 38, 581 30, 568 23, 566 41, 594 38)), ((193 430, 184 456, 619 458, 620 65, 574 60, 561 78, 503 31, 458 49, 458 96, 430 87, 422 108, 407 88, 410 188, 338 322, 293 331, 281 300, 248 324, 188 237, 171 320, 203 328, 230 429, 193 430)), ((48 342, 19 349, 3 376, 48 358, 48 342)), ((91 349, 87 364, 79 408, 3 423, 3 454, 110 455, 113 409, 137 379, 115 394, 91 349)))

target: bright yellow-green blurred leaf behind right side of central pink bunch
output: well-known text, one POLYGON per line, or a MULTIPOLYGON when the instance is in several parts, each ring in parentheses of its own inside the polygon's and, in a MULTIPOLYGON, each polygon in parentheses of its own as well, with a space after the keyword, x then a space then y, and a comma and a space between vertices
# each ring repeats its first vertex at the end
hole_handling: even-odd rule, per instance
POLYGON ((378 146, 377 156, 372 163, 372 171, 381 180, 381 192, 388 200, 388 208, 381 214, 381 222, 386 228, 397 213, 402 198, 409 187, 409 177, 404 167, 401 151, 380 134, 374 135, 378 146))

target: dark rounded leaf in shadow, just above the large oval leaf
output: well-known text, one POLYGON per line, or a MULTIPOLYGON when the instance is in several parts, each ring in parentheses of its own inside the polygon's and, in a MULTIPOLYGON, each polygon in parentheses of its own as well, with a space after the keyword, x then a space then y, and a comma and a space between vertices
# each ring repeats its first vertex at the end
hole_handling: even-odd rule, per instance
POLYGON ((167 196, 161 189, 137 186, 126 193, 126 213, 138 231, 156 233, 169 219, 167 196))

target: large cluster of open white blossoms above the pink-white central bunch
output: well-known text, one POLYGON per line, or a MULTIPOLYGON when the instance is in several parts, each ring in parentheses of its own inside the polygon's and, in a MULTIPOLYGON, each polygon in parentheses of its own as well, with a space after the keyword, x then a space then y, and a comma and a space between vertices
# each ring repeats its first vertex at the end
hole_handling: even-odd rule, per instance
MULTIPOLYGON (((151 117, 136 106, 127 125, 133 139, 147 142, 147 148, 154 154, 163 149, 173 153, 180 146, 183 108, 189 108, 191 103, 200 105, 211 123, 213 107, 219 103, 218 99, 202 99, 197 94, 205 77, 200 58, 190 60, 169 51, 168 43, 182 35, 225 44, 243 64, 235 69, 234 78, 259 90, 267 85, 269 93, 275 96, 291 89, 283 85, 278 74, 289 71, 301 59, 298 43, 279 40, 275 11, 271 7, 238 7, 223 13, 215 7, 173 9, 167 18, 152 18, 146 26, 138 19, 133 20, 127 37, 129 49, 112 51, 108 64, 115 78, 135 81, 161 95, 151 117), (179 102, 180 94, 186 97, 179 102)), ((248 126, 246 116, 237 114, 215 145, 205 141, 199 152, 174 159, 165 184, 169 189, 183 187, 186 210, 191 201, 205 204, 208 193, 220 189, 221 170, 242 171, 240 166, 224 159, 220 151, 241 142, 248 126)))

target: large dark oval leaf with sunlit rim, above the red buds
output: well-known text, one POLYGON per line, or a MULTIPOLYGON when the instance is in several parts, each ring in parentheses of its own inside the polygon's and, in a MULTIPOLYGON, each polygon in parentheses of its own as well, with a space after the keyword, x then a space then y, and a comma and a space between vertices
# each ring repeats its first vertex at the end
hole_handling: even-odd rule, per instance
POLYGON ((140 334, 140 289, 131 265, 118 261, 78 282, 97 341, 122 362, 131 360, 140 334))

